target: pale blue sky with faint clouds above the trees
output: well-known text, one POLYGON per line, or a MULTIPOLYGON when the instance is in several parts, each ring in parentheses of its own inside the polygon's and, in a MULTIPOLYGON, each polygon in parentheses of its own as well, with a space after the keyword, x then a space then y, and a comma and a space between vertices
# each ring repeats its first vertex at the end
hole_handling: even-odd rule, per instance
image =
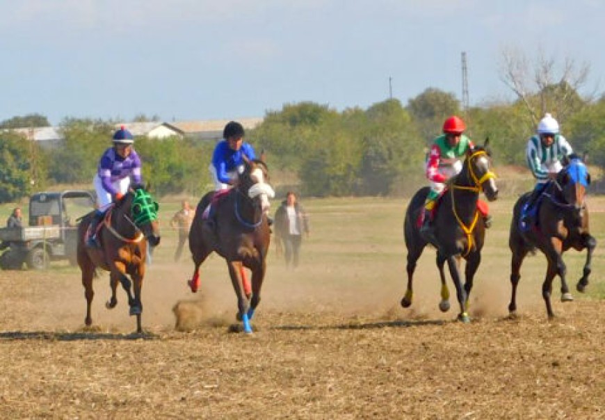
POLYGON ((341 111, 429 87, 511 99, 503 51, 590 64, 602 92, 602 0, 0 0, 0 120, 261 117, 341 111))

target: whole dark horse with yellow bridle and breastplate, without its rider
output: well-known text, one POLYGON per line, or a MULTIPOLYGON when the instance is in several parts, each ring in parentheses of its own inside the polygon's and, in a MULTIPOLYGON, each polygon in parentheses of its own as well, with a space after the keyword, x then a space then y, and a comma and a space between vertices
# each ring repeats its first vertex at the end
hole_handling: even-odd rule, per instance
MULTIPOLYGON (((494 201, 498 196, 494 172, 491 170, 491 158, 486 147, 476 146, 467 152, 462 170, 451 179, 449 186, 440 198, 433 217, 434 239, 431 245, 437 248, 437 268, 441 279, 439 309, 449 310, 449 289, 447 288, 444 264, 447 261, 455 285, 456 296, 460 304, 458 320, 470 321, 467 314, 469 295, 473 287, 474 275, 481 264, 481 250, 485 238, 485 222, 479 215, 478 198, 483 191, 487 200, 494 201), (466 260, 465 285, 460 280, 460 259, 466 260)), ((408 248, 408 286, 401 299, 402 307, 412 305, 412 282, 416 264, 430 239, 420 232, 419 216, 424 212, 426 195, 430 191, 426 186, 417 191, 405 211, 404 234, 408 248)))

